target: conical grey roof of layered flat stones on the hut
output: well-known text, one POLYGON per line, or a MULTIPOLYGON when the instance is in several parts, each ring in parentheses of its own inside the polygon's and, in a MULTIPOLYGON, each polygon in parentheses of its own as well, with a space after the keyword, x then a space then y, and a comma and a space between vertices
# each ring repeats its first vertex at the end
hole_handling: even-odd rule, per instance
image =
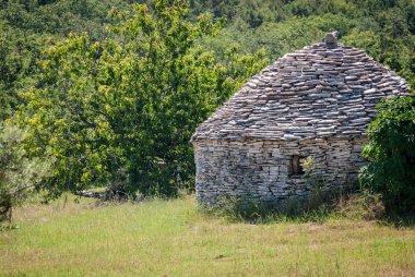
POLYGON ((285 55, 203 122, 198 140, 312 140, 366 134, 382 97, 408 85, 364 50, 341 44, 285 55))

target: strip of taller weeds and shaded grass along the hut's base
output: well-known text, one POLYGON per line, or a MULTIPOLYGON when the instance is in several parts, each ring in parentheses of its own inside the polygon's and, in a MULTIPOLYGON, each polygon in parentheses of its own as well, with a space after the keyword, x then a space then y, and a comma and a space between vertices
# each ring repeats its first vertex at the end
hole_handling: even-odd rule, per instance
POLYGON ((313 195, 304 201, 284 205, 260 204, 225 196, 215 205, 204 205, 200 210, 209 216, 222 217, 232 222, 325 222, 330 219, 357 219, 377 221, 395 228, 415 227, 415 215, 387 213, 379 194, 366 191, 342 194, 313 195))

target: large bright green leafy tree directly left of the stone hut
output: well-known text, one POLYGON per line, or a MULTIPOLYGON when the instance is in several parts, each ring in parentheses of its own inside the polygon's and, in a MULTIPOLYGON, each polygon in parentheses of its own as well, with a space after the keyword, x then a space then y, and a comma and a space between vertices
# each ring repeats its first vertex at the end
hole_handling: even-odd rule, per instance
POLYGON ((71 36, 46 51, 21 123, 32 155, 51 149, 60 189, 104 185, 134 195, 174 195, 191 186, 195 127, 264 65, 230 50, 226 63, 197 45, 221 23, 186 20, 182 1, 112 11, 108 38, 71 36))

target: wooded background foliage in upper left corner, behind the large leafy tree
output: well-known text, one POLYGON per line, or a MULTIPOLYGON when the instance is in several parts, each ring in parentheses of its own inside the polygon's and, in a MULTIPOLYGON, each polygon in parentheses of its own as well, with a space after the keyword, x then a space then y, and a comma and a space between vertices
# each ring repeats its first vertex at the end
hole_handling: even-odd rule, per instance
POLYGON ((0 0, 0 121, 22 103, 19 92, 36 83, 36 60, 50 40, 71 32, 105 35, 107 13, 122 0, 0 0))

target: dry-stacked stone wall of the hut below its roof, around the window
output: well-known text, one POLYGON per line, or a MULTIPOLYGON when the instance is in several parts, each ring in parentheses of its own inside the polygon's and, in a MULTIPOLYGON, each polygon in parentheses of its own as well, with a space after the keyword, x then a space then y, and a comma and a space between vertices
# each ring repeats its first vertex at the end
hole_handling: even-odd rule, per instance
POLYGON ((360 152, 366 138, 309 141, 194 142, 197 200, 215 204, 223 196, 284 205, 306 200, 316 190, 336 192, 356 184, 358 169, 367 161, 360 152), (293 172, 293 156, 312 157, 311 176, 293 172), (319 188, 316 188, 319 185, 319 188))

